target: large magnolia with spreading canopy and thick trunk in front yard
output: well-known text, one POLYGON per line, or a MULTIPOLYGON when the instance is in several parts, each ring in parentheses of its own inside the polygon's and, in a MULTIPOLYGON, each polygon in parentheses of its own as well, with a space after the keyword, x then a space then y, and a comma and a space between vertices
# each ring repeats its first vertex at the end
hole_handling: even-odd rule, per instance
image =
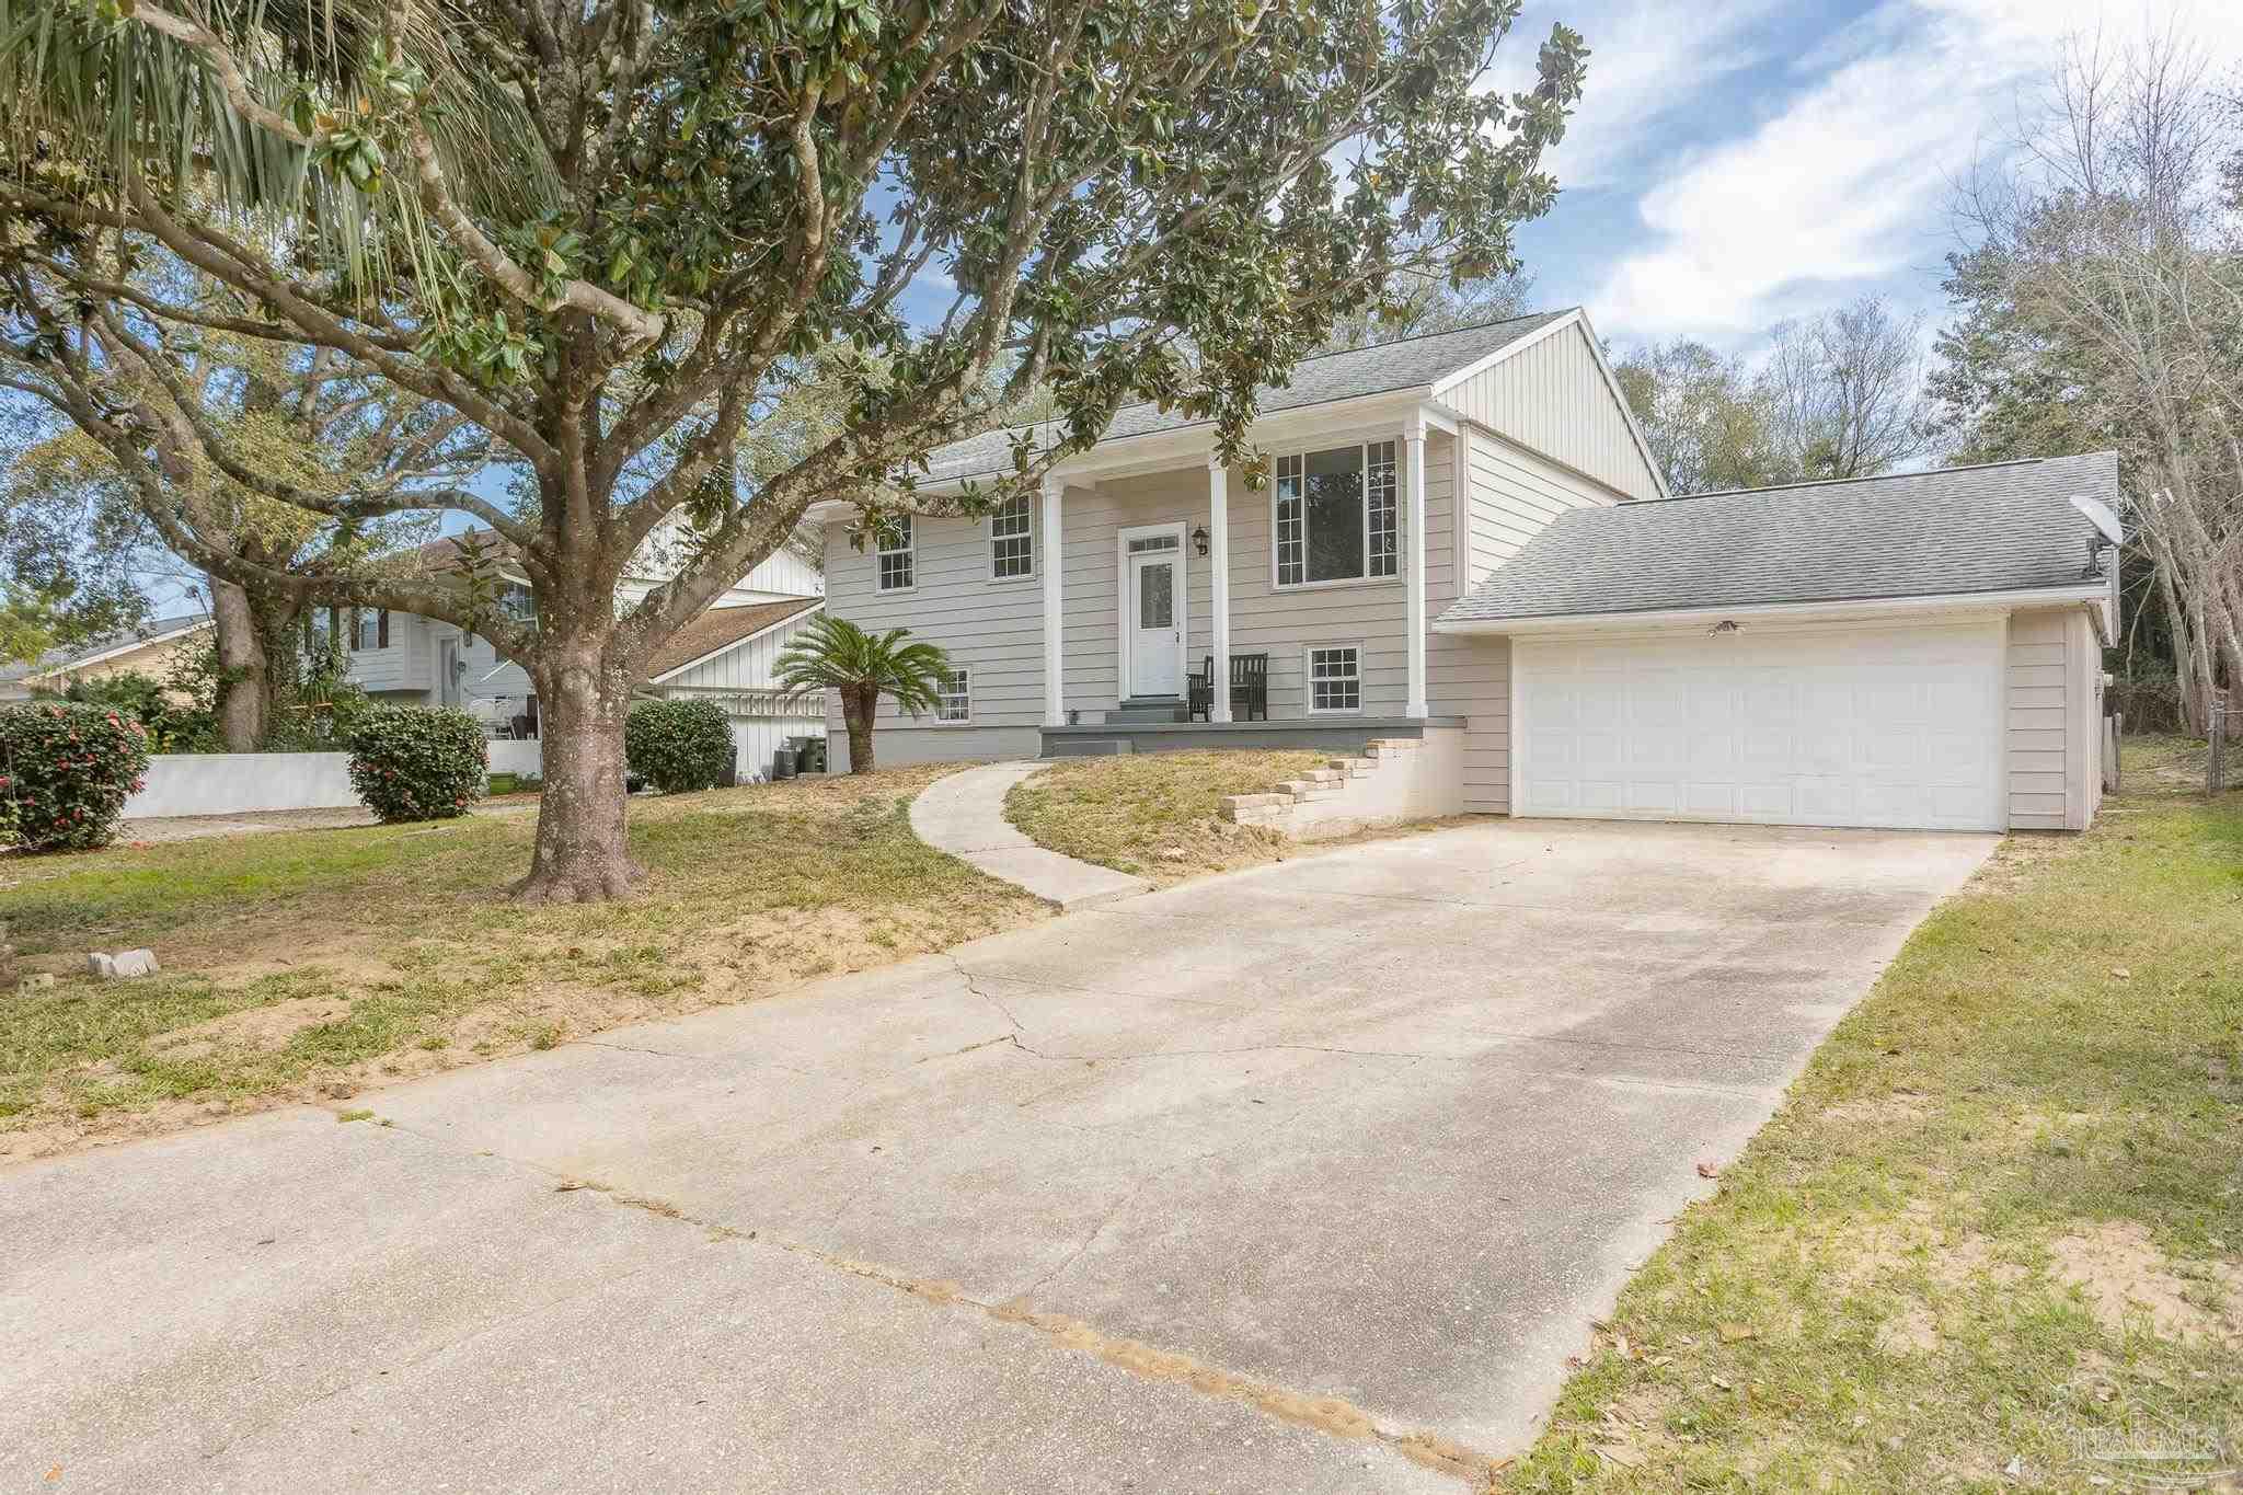
POLYGON ((1023 444, 1012 484, 1130 399, 1247 459, 1256 386, 1397 271, 1514 269, 1584 76, 1554 27, 1532 90, 1485 92, 1519 0, 16 2, 0 253, 54 287, 13 314, 72 419, 211 572, 460 621, 529 670, 529 899, 630 885, 630 688, 812 502, 877 524, 931 446, 1030 392, 1061 439, 1023 444), (511 482, 262 471, 155 334, 211 314, 119 276, 153 249, 238 298, 229 332, 455 412, 511 482), (747 475, 805 370, 839 370, 839 419, 747 475), (155 500, 182 459, 339 524, 464 511, 536 619, 431 581, 267 574, 155 500), (673 513, 689 554, 619 612, 673 513))

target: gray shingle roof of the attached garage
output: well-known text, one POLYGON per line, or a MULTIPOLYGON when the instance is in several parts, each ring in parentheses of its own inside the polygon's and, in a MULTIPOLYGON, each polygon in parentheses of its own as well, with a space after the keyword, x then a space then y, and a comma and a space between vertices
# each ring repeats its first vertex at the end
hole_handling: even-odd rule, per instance
POLYGON ((1440 621, 2077 587, 2075 493, 2117 509, 2117 455, 1575 509, 1440 621))

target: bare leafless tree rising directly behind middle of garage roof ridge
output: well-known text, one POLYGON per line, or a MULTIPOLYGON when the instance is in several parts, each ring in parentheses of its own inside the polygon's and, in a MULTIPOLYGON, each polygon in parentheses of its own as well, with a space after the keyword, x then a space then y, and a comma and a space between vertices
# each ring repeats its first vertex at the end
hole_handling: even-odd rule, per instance
POLYGON ((1871 477, 1931 448, 1922 321, 1882 296, 1776 323, 1759 388, 1797 477, 1871 477))

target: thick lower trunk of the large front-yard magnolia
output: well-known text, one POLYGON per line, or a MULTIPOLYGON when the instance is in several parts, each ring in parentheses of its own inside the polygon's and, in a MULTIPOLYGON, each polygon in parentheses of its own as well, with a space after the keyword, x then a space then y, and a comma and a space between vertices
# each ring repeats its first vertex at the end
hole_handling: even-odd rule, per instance
POLYGON ((606 639, 552 641, 532 679, 543 717, 545 793, 525 903, 621 899, 641 876, 624 838, 624 717, 630 681, 603 663, 606 639))

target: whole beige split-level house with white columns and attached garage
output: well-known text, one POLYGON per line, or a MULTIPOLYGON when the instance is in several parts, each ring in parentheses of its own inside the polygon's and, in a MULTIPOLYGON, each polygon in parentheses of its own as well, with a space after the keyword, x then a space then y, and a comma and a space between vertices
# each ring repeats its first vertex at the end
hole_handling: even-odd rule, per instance
MULTIPOLYGON (((884 704, 881 762, 1438 737, 1467 811, 2095 811, 2115 574, 2073 500, 2117 504, 2108 453, 1673 498, 1579 309, 1310 359, 1247 435, 1263 489, 1130 406, 989 518, 814 511, 830 610, 958 666, 938 713, 884 704), (1184 722, 1238 654, 1270 719, 1216 688, 1184 722)), ((1007 466, 1007 433, 940 448, 922 504, 1007 466)))

